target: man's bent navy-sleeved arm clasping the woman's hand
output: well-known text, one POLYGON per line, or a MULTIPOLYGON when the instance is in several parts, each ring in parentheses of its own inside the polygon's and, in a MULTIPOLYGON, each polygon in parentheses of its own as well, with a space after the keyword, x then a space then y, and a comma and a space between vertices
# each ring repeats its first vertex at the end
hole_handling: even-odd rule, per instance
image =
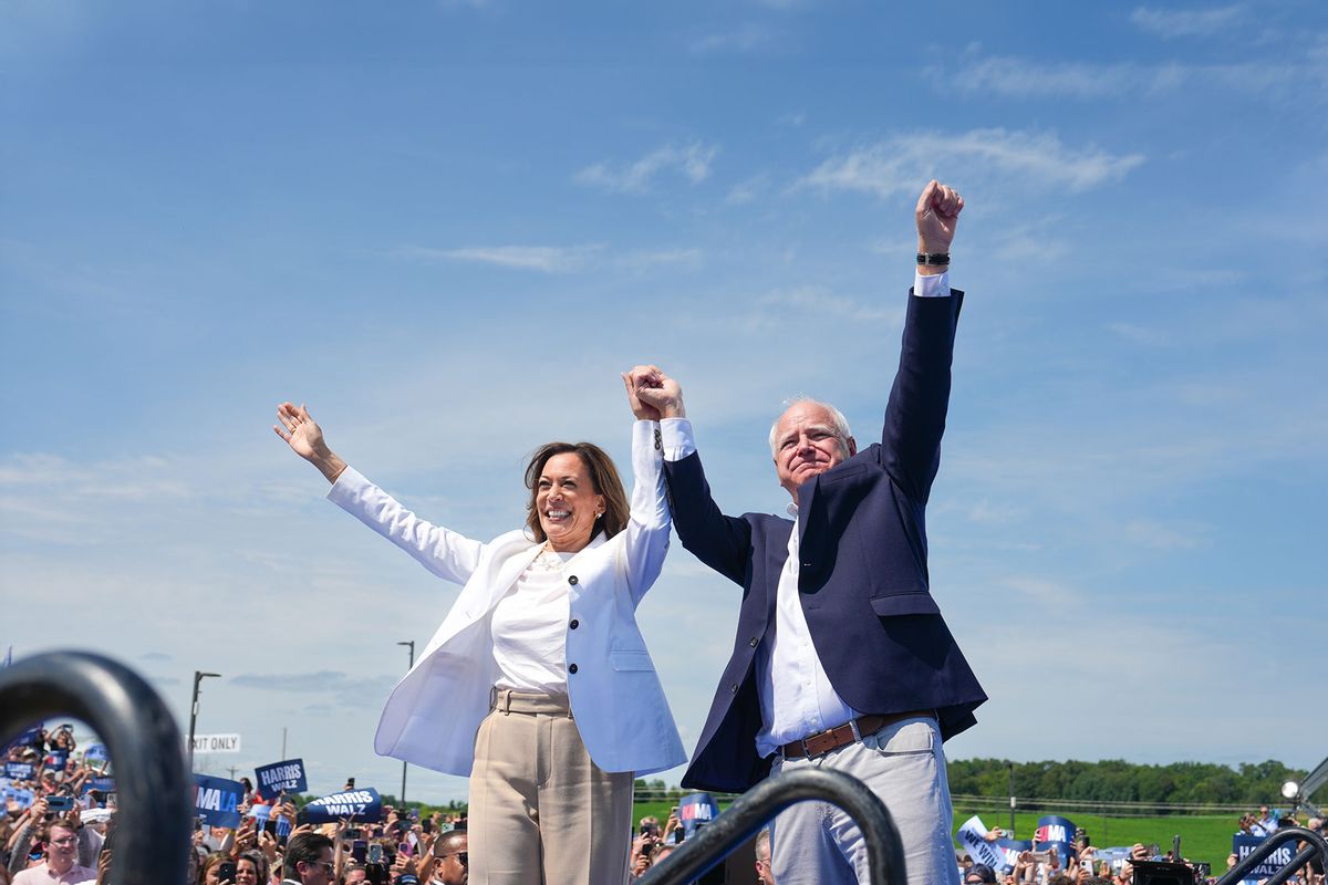
POLYGON ((636 398, 653 409, 661 423, 668 503, 683 547, 716 572, 742 584, 752 552, 752 527, 746 520, 721 513, 710 498, 683 406, 683 387, 659 366, 636 366, 628 377, 636 398))

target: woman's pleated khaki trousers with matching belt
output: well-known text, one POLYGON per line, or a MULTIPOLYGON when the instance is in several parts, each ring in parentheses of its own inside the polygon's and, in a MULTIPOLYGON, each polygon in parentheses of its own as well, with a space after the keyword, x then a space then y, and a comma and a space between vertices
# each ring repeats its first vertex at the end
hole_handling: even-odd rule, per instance
POLYGON ((495 690, 475 734, 470 885, 622 885, 632 772, 596 766, 567 698, 495 690))

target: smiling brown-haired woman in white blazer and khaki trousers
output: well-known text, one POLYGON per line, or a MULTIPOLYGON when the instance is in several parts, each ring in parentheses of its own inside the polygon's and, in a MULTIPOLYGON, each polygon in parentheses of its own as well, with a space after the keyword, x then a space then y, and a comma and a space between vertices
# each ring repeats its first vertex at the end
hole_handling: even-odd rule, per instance
POLYGON ((625 881, 632 779, 687 760, 636 626, 669 543, 659 423, 623 378, 631 504, 598 446, 548 443, 526 468, 526 527, 489 543, 418 519, 328 448, 304 406, 278 407, 274 430, 333 503, 463 585, 374 750, 470 776, 473 884, 625 881))

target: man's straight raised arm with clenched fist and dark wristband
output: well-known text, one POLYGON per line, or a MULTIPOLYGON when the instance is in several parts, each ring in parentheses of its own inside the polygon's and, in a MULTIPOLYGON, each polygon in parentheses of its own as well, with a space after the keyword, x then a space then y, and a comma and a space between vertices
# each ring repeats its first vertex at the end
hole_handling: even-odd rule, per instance
POLYGON ((950 365, 963 292, 950 289, 946 272, 963 208, 964 198, 935 179, 918 198, 919 285, 908 297, 899 370, 882 431, 884 468, 920 503, 931 494, 940 464, 950 407, 950 365))

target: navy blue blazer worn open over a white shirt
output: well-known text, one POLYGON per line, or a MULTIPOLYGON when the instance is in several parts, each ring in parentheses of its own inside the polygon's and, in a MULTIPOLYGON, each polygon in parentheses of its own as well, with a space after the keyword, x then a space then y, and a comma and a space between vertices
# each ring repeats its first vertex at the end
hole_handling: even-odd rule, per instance
MULTIPOLYGON (((924 510, 940 464, 950 365, 964 293, 910 292, 884 430, 798 487, 798 596, 830 685, 865 714, 936 710, 942 738, 975 724, 987 699, 931 597, 924 510)), ((697 452, 664 462, 683 547, 742 586, 733 654, 683 785, 742 792, 770 772, 756 735, 756 649, 774 625, 793 520, 725 516, 697 452)))

